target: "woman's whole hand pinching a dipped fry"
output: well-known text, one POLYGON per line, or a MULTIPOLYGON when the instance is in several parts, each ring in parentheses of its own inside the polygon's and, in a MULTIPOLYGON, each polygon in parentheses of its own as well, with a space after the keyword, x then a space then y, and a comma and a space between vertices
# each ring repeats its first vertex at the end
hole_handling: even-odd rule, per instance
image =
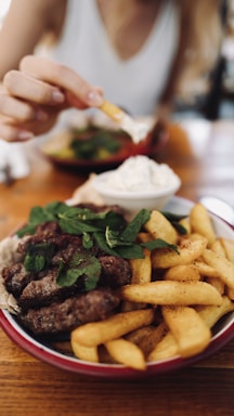
POLYGON ((100 89, 53 61, 26 56, 9 72, 0 90, 0 138, 25 141, 50 130, 61 110, 103 103, 100 89))

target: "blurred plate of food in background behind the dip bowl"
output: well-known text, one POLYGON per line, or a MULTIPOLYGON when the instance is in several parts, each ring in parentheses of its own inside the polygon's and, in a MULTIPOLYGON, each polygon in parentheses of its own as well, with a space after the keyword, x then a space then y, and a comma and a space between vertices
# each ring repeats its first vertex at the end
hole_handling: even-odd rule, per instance
POLYGON ((168 131, 165 123, 152 117, 143 120, 153 130, 136 144, 114 121, 95 117, 70 122, 51 134, 40 150, 52 162, 64 167, 86 170, 116 167, 130 156, 156 155, 166 145, 168 131))

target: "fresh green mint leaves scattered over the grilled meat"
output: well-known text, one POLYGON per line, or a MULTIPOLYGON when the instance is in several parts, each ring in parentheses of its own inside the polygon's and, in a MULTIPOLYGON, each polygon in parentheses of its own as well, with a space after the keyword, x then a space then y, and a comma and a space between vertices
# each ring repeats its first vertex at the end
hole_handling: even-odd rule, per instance
MULTIPOLYGON (((39 224, 56 222, 63 232, 81 236, 82 253, 76 252, 68 264, 61 262, 56 282, 61 286, 70 286, 82 276, 86 290, 91 290, 96 286, 101 274, 99 260, 89 251, 94 245, 107 255, 125 259, 144 258, 144 247, 150 250, 167 247, 178 252, 176 245, 160 238, 136 243, 138 234, 150 216, 150 210, 142 209, 130 223, 127 223, 121 214, 112 210, 93 212, 88 208, 69 207, 64 203, 53 202, 46 207, 34 207, 28 223, 17 232, 17 235, 23 237, 26 234, 34 234, 39 224)), ((173 222, 179 219, 179 216, 172 217, 173 222)), ((47 269, 54 250, 52 244, 29 244, 24 263, 26 270, 37 273, 47 269)))

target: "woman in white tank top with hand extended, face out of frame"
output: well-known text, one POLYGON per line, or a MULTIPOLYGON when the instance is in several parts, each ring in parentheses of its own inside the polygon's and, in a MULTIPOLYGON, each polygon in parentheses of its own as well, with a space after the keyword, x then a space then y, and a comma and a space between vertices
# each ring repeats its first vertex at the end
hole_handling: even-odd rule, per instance
POLYGON ((103 93, 133 115, 206 93, 222 38, 220 3, 13 0, 0 32, 0 136, 46 132, 65 108, 102 105, 103 93), (40 56, 48 39, 50 61, 40 56))

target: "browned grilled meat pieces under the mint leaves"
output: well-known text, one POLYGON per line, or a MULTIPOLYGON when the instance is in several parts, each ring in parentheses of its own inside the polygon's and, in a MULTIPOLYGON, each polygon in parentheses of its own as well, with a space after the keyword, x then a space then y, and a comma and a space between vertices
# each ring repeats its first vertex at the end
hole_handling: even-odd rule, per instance
POLYGON ((22 312, 21 323, 35 335, 60 334, 93 321, 100 321, 116 310, 119 299, 114 289, 129 284, 131 266, 129 261, 101 252, 93 246, 91 255, 101 263, 98 287, 86 291, 86 275, 70 286, 60 286, 56 276, 61 261, 68 264, 74 255, 86 249, 79 236, 62 232, 55 222, 37 226, 36 233, 18 245, 21 261, 2 271, 5 287, 17 300, 22 312), (39 272, 28 272, 24 261, 31 246, 50 246, 50 261, 39 272))

